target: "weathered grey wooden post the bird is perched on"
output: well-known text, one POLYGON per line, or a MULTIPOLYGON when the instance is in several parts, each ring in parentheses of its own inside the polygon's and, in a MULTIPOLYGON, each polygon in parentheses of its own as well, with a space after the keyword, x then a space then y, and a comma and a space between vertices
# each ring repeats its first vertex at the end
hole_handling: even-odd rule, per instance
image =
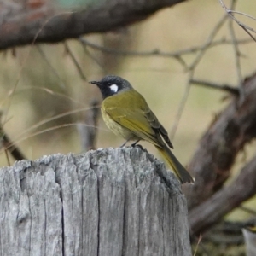
POLYGON ((1 255, 191 255, 180 184, 140 148, 22 160, 0 172, 1 255))

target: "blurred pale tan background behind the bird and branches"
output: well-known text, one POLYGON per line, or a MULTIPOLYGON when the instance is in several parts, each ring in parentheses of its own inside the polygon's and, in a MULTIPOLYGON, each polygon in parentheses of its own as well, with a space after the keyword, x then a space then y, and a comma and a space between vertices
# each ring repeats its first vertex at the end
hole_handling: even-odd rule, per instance
MULTIPOLYGON (((75 9, 75 3, 58 1, 55 4, 56 8, 75 9)), ((238 1, 236 10, 256 17, 253 1, 238 1)), ((100 91, 88 81, 115 74, 129 80, 146 98, 169 131, 174 153, 186 165, 207 127, 229 103, 229 96, 222 90, 188 85, 189 71, 181 61, 167 53, 186 50, 188 53, 182 55, 183 61, 191 65, 197 55, 192 49, 207 44, 223 16, 224 9, 216 0, 187 1, 174 8, 162 9, 132 26, 84 36, 84 44, 79 40, 67 40, 60 44, 36 44, 2 51, 0 104, 4 131, 30 160, 44 154, 83 152, 78 124, 84 123, 90 102, 102 100, 100 91), (150 54, 153 52, 155 54, 150 54), (177 120, 186 94, 183 113, 177 120)), ((240 20, 255 27, 254 20, 244 16, 240 20)), ((237 38, 248 38, 241 27, 234 27, 237 38)), ((229 22, 226 22, 218 30, 215 41, 229 38, 229 22)), ((255 45, 253 41, 240 45, 243 77, 255 72, 255 45)), ((196 65, 193 78, 237 87, 239 80, 233 45, 209 47, 196 65)), ((108 131, 102 117, 96 128, 96 148, 119 147, 124 143, 108 131)), ((148 143, 142 145, 155 154, 154 147, 148 143)), ((254 153, 255 143, 251 143, 238 157, 236 169, 239 170, 254 153)), ((10 160, 12 164, 13 160, 10 160)), ((9 165, 4 150, 1 151, 0 165, 9 165)), ((248 201, 245 206, 255 208, 255 200, 248 201)), ((227 218, 242 220, 249 215, 236 210, 227 218)))

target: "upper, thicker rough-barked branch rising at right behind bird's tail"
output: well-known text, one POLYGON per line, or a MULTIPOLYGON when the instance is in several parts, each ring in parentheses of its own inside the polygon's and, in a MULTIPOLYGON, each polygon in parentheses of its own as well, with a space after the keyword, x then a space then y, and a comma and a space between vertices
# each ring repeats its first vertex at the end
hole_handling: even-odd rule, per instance
MULTIPOLYGON (((235 96, 231 99, 201 138, 189 164, 195 177, 194 185, 183 188, 189 211, 223 187, 232 173, 236 155, 256 137, 256 74, 244 81, 243 88, 244 100, 235 96)), ((247 184, 243 186, 246 189, 247 184)))

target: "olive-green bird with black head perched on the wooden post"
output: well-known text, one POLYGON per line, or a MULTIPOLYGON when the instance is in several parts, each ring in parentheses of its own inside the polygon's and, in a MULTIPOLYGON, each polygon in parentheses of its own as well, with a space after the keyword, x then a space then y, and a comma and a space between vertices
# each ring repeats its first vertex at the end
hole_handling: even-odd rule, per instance
POLYGON ((109 130, 126 143, 140 140, 154 144, 160 155, 175 172, 181 183, 194 183, 195 179, 172 154, 172 143, 163 125, 148 107, 144 97, 131 84, 115 75, 107 75, 100 81, 90 81, 102 92, 102 119, 109 130))

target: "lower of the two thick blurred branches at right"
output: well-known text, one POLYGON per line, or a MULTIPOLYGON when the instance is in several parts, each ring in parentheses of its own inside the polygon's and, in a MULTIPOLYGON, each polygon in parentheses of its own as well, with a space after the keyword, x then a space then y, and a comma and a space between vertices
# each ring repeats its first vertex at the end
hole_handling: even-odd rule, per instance
POLYGON ((224 215, 239 207, 256 194, 256 157, 242 168, 240 175, 229 186, 220 189, 206 202, 189 212, 190 233, 199 235, 224 215))

